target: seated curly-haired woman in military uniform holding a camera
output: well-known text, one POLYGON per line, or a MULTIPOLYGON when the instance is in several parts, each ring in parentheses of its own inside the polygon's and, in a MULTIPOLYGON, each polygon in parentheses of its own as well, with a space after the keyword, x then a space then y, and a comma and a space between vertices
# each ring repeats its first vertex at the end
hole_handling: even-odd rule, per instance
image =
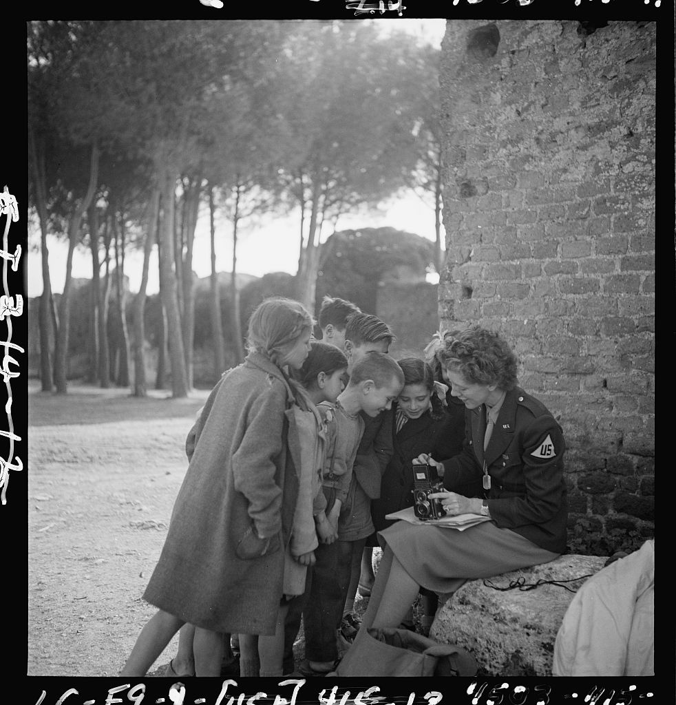
POLYGON ((466 580, 548 563, 566 548, 563 431, 517 386, 509 345, 472 326, 447 338, 438 356, 465 404, 465 443, 450 460, 417 462, 443 474, 444 490, 430 498, 446 515, 487 518, 464 531, 399 521, 380 532, 383 557, 362 628, 399 625, 420 587, 454 592, 466 580), (476 480, 483 496, 460 494, 476 480))

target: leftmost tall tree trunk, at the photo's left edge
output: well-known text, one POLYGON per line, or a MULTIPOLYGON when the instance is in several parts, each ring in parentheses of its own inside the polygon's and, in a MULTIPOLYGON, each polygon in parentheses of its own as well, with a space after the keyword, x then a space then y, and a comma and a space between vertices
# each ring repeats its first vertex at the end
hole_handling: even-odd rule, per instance
POLYGON ((44 176, 44 150, 37 149, 35 135, 29 130, 29 149, 32 157, 33 178, 35 180, 35 204, 40 222, 40 254, 42 255, 42 295, 40 295, 38 322, 40 330, 40 384, 42 391, 51 392, 54 388, 52 379, 51 348, 54 345, 54 321, 51 313, 54 298, 51 293, 49 278, 49 249, 47 247, 47 186, 44 176))

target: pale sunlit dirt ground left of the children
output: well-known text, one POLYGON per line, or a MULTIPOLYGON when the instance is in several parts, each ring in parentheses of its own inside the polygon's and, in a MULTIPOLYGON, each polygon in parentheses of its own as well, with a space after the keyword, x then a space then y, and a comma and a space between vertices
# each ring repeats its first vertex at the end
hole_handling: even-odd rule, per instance
POLYGON ((28 675, 113 676, 123 666, 154 612, 140 596, 207 395, 29 388, 28 675))

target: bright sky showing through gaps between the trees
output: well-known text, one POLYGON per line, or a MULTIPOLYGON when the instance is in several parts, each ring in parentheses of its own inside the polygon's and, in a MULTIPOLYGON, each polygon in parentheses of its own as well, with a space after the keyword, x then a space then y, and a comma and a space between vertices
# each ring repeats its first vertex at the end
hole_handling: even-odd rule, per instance
MULTIPOLYGON (((369 20, 362 20, 369 21, 369 20)), ((445 20, 434 19, 397 19, 371 20, 377 26, 387 30, 391 25, 405 29, 422 37, 426 37, 437 46, 441 44, 445 30, 445 20)), ((392 227, 421 235, 430 240, 435 239, 434 208, 431 201, 424 204, 422 200, 411 193, 388 202, 379 204, 376 208, 341 216, 336 223, 336 230, 351 230, 357 228, 392 227)), ((324 226, 321 240, 331 235, 333 227, 324 226)), ((216 270, 231 271, 232 266, 232 226, 226 219, 216 220, 216 270)), ((29 228, 29 245, 39 243, 39 234, 29 228)), ((443 243, 443 227, 442 227, 443 243)), ((49 268, 51 287, 54 293, 63 291, 66 279, 66 255, 68 245, 48 236, 49 268)), ((237 270, 242 274, 263 276, 269 272, 285 271, 295 274, 300 254, 300 212, 290 216, 270 216, 258 222, 243 220, 240 222, 237 247, 237 270)), ((125 255, 125 274, 129 277, 132 292, 138 290, 141 281, 142 252, 129 251, 125 255)), ((206 204, 202 204, 197 219, 195 231, 195 246, 193 251, 192 269, 198 277, 209 276, 211 272, 211 255, 209 245, 209 212, 206 204)), ((88 249, 78 248, 73 256, 73 277, 91 278, 92 259, 88 249)), ((430 277, 434 280, 434 275, 430 277)), ((27 259, 28 296, 39 296, 42 293, 41 255, 35 247, 30 247, 27 259)), ((159 290, 159 274, 157 251, 153 251, 150 260, 149 281, 147 293, 154 294, 159 290)))

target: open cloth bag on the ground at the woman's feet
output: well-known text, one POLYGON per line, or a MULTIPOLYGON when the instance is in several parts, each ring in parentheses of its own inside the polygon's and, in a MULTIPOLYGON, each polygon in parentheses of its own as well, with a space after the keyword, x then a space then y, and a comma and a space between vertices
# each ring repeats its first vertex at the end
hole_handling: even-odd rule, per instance
POLYGON ((361 629, 338 667, 337 676, 475 675, 474 656, 455 644, 437 644, 407 629, 361 629))

